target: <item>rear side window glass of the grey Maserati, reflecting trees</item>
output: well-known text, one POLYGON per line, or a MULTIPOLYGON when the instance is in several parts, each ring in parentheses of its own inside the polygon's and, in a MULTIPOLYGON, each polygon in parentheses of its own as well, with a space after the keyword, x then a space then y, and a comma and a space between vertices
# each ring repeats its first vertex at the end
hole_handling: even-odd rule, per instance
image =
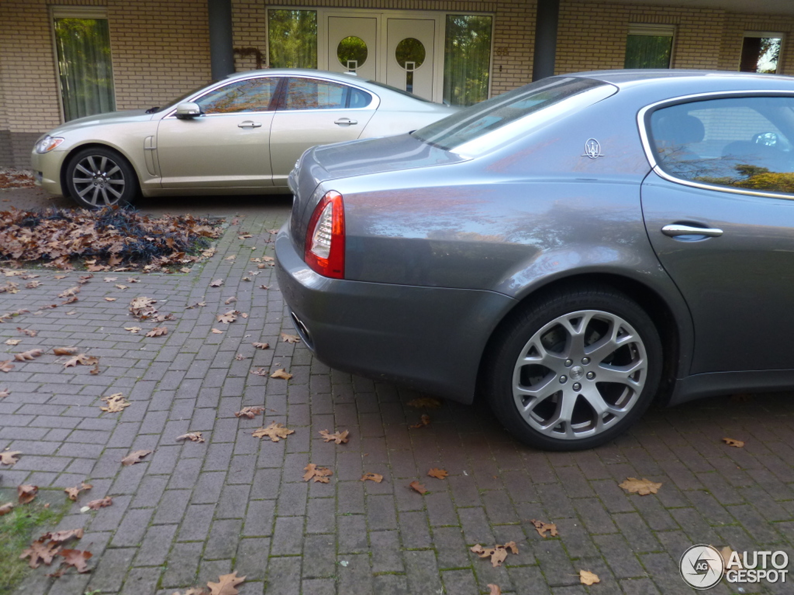
POLYGON ((656 109, 659 167, 690 182, 794 194, 794 98, 730 97, 656 109))

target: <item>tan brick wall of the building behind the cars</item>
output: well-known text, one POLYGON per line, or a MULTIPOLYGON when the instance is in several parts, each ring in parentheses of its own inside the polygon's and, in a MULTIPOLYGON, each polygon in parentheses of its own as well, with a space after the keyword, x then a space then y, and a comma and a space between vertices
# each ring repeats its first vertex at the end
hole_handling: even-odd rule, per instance
MULTIPOLYGON (((48 6, 52 0, 0 0, 0 166, 27 167, 29 144, 60 124, 48 6)), ((206 0, 58 0, 53 6, 105 6, 110 24, 118 109, 163 105, 211 78, 206 0)), ((532 75, 532 0, 287 0, 274 6, 492 13, 491 91, 500 94, 532 75)), ((264 0, 233 0, 237 70, 267 55, 264 0)), ((794 18, 683 7, 562 0, 558 73, 622 68, 630 24, 676 26, 673 67, 736 70, 745 31, 779 31, 781 72, 794 74, 794 18)))

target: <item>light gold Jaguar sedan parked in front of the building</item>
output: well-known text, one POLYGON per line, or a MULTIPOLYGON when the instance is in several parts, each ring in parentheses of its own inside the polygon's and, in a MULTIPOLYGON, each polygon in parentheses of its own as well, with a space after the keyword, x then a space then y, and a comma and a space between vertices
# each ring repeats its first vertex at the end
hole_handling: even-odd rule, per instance
POLYGON ((354 75, 247 71, 162 108, 60 125, 33 147, 33 175, 90 208, 138 194, 287 193, 307 148, 409 132, 455 111, 354 75))

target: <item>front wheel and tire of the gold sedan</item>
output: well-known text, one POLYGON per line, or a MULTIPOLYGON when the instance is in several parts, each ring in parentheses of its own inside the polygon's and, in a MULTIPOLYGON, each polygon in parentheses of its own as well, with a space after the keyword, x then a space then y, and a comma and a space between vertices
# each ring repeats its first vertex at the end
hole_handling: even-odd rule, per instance
POLYGON ((69 195, 88 209, 128 205, 138 194, 135 170, 110 148, 89 147, 76 152, 65 174, 69 195))

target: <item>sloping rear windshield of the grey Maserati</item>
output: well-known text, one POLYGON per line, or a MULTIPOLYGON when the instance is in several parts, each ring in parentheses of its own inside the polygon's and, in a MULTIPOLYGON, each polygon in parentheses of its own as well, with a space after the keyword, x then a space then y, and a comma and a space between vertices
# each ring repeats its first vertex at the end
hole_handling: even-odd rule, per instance
POLYGON ((540 109, 599 86, 610 87, 606 83, 576 77, 542 79, 477 103, 411 134, 450 151, 540 109))

